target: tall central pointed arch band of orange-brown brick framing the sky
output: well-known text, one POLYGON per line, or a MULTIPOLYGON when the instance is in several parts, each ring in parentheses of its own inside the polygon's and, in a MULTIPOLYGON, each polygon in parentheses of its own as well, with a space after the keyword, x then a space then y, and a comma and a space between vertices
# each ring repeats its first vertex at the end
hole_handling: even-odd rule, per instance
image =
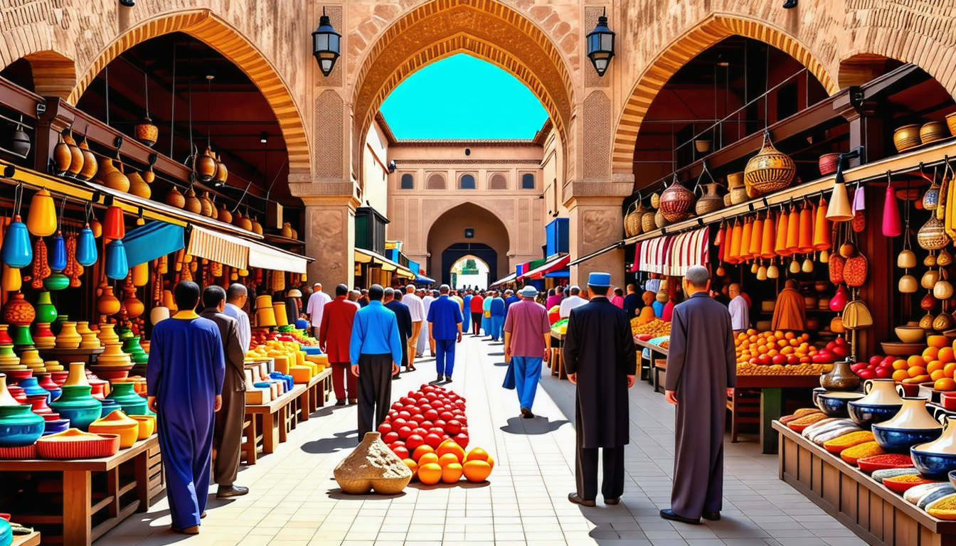
POLYGON ((551 38, 497 0, 433 0, 381 33, 359 66, 352 98, 354 172, 361 172, 359 151, 385 98, 424 65, 458 53, 486 60, 527 85, 567 145, 575 87, 551 38))

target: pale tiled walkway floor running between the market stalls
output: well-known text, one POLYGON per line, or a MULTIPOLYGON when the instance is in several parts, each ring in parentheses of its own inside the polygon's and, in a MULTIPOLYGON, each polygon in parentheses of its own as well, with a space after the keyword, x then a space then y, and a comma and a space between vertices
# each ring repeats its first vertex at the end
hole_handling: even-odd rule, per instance
MULTIPOLYGON (((449 385, 467 398, 471 446, 486 448, 497 460, 489 486, 413 484, 400 497, 343 495, 332 470, 357 443, 356 412, 324 408, 293 431, 289 443, 240 472, 237 483, 249 486, 249 495, 210 501, 201 535, 172 534, 162 501, 149 513, 134 514, 97 546, 864 544, 778 480, 776 457, 761 455, 753 441, 727 444, 722 521, 691 526, 661 519, 658 510, 670 503, 673 409, 641 382, 631 392, 623 502, 591 509, 569 503, 567 494, 575 488, 573 386, 544 377, 533 408, 538 417, 520 419, 513 391, 500 386, 503 360, 500 343, 467 336, 449 385)), ((433 380, 429 362, 394 382, 393 396, 433 380)))

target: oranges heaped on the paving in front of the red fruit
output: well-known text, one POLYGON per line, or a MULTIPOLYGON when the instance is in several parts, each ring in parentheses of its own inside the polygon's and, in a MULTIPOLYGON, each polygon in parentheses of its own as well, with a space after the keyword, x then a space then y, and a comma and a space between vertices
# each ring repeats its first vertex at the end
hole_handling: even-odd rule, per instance
POLYGON ((412 480, 426 486, 458 483, 462 476, 469 482, 484 482, 494 468, 494 458, 488 451, 473 448, 466 453, 452 440, 445 440, 437 449, 419 446, 404 463, 412 470, 412 480))

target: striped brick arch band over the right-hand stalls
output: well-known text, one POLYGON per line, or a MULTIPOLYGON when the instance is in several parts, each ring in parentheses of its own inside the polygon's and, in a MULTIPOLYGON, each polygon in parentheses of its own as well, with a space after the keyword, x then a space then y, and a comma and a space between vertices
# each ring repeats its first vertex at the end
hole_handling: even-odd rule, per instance
POLYGON ((633 172, 634 146, 637 143, 641 121, 667 80, 674 76, 687 61, 732 35, 741 35, 770 44, 807 67, 827 93, 833 95, 839 90, 836 79, 830 76, 816 56, 789 33, 752 19, 731 15, 712 15, 669 44, 663 53, 644 69, 632 88, 615 130, 614 150, 611 156, 613 172, 633 172))

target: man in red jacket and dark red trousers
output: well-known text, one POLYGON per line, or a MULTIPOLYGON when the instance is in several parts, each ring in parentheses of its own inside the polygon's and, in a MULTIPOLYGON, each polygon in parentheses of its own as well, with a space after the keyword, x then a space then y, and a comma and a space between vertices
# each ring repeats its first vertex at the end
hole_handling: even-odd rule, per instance
POLYGON ((349 287, 336 287, 336 298, 325 304, 322 323, 318 327, 318 344, 329 356, 332 364, 332 386, 336 391, 336 405, 356 404, 359 398, 359 383, 352 375, 349 342, 352 339, 352 322, 359 306, 348 300, 349 287))

